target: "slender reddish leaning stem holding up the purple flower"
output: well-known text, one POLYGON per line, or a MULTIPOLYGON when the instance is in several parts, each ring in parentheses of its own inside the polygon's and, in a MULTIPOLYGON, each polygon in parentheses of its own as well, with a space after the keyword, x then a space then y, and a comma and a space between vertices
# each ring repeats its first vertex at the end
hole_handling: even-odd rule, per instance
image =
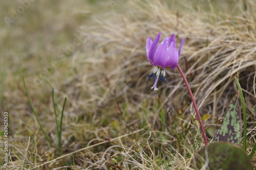
POLYGON ((204 126, 203 126, 202 119, 201 119, 201 116, 200 116, 200 114, 199 114, 199 111, 198 111, 197 104, 196 104, 196 101, 195 101, 195 99, 194 99, 193 93, 192 93, 192 91, 191 91, 191 89, 190 89, 190 87, 189 87, 189 84, 188 84, 188 82, 187 82, 187 79, 186 79, 186 77, 185 77, 183 71, 181 70, 180 66, 177 65, 177 68, 179 69, 180 74, 181 74, 181 76, 182 76, 182 78, 183 78, 183 80, 184 80, 184 82, 185 82, 185 84, 186 84, 186 86, 187 86, 188 93, 189 93, 189 95, 190 95, 190 98, 191 98, 192 103, 193 103, 193 105, 194 105, 194 108, 195 108, 195 110, 196 110, 197 118, 198 118, 199 124, 200 124, 200 128, 201 128, 201 131, 202 131, 202 133, 203 133, 204 143, 205 143, 205 145, 207 145, 208 142, 207 142, 206 134, 205 134, 205 131, 204 131, 204 126))

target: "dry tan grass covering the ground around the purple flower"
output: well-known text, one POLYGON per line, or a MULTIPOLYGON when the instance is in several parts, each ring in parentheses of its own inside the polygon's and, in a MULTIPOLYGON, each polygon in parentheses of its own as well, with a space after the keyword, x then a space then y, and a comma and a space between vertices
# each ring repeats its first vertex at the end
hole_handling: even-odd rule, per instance
MULTIPOLYGON (((206 128, 221 125, 238 91, 234 77, 239 78, 248 109, 249 153, 256 141, 256 4, 246 2, 245 10, 244 1, 231 3, 233 11, 220 13, 208 3, 113 2, 36 1, 11 27, 1 25, 8 168, 188 168, 203 140, 181 76, 177 69, 167 71, 167 82, 160 82, 158 91, 147 81, 153 67, 145 56, 145 40, 159 32, 164 37, 175 33, 178 46, 186 38, 179 65, 201 114, 211 114, 206 128), (53 148, 32 114, 21 72, 53 148), (52 87, 59 110, 67 96, 60 157, 52 87)), ((2 13, 19 5, 6 2, 2 13)))

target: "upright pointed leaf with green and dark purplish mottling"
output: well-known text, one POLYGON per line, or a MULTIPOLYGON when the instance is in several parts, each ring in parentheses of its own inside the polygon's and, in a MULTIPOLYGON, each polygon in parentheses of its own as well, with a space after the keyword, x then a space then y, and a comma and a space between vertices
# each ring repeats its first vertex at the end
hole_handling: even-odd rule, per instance
POLYGON ((226 141, 234 144, 240 144, 242 120, 238 98, 239 93, 234 95, 229 102, 223 124, 214 135, 214 137, 211 139, 210 143, 217 141, 226 141))

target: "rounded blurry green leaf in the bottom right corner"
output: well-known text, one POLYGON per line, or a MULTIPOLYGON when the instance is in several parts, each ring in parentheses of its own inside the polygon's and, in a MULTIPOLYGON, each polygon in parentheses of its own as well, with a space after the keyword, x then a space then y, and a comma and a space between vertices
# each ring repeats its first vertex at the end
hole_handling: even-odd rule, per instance
POLYGON ((206 145, 194 156, 190 167, 210 170, 252 170, 245 151, 238 145, 227 142, 206 145))

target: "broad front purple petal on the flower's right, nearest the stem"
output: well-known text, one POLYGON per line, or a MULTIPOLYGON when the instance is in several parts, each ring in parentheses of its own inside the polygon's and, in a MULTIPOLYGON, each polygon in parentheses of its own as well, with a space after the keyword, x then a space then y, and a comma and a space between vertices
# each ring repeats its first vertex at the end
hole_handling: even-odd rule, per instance
POLYGON ((165 67, 174 69, 177 67, 178 62, 179 62, 179 54, 178 54, 176 46, 172 42, 172 43, 170 43, 170 46, 168 49, 168 56, 167 56, 167 61, 165 63, 165 67))

